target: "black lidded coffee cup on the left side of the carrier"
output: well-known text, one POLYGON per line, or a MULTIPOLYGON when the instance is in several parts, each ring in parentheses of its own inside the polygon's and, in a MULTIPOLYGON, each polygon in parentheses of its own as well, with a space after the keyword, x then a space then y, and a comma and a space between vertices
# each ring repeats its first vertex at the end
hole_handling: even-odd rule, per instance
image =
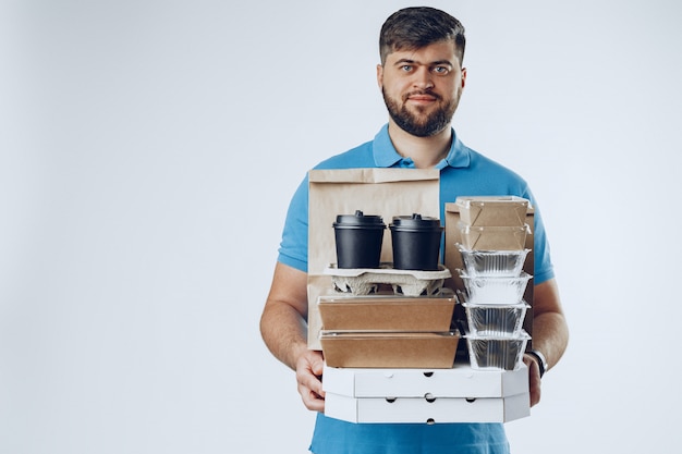
POLYGON ((380 216, 339 214, 333 229, 338 268, 379 268, 386 229, 380 216))

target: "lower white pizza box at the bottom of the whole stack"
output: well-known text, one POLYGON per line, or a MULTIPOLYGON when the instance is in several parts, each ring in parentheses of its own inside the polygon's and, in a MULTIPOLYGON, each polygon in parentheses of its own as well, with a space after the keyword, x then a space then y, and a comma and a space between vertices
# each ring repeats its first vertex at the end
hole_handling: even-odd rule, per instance
POLYGON ((325 395, 325 415, 349 422, 509 422, 531 415, 531 397, 350 397, 325 395))

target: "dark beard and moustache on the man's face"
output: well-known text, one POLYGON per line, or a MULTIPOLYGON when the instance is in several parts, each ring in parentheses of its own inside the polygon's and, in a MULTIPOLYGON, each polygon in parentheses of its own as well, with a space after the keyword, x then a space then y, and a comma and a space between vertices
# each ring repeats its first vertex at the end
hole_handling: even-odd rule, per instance
POLYGON ((405 95, 402 103, 388 96, 383 88, 381 89, 381 94, 383 95, 383 102, 386 103, 388 113, 395 124, 404 132, 417 137, 431 137, 448 127, 459 103, 456 97, 452 98, 448 103, 442 103, 441 96, 430 91, 424 91, 424 94, 436 97, 436 99, 440 101, 440 105, 436 111, 422 119, 421 116, 423 115, 418 115, 418 113, 422 113, 423 109, 417 109, 418 113, 414 113, 411 112, 405 105, 407 97, 414 95, 414 93, 405 95))

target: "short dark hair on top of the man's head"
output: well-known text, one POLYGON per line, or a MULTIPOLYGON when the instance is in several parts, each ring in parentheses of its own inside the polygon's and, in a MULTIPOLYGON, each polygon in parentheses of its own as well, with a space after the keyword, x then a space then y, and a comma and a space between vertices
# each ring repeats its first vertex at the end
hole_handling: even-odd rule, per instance
POLYGON ((421 49, 434 42, 453 40, 460 64, 464 61, 464 26, 444 11, 430 7, 404 8, 391 14, 381 26, 379 54, 381 64, 389 53, 421 49))

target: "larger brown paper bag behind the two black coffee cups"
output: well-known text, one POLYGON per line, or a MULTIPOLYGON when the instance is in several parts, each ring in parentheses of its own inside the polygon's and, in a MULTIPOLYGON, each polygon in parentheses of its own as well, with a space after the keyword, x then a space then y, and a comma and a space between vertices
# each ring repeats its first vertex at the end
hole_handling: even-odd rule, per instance
MULTIPOLYGON (((419 213, 440 217, 440 171, 437 169, 342 169, 308 173, 308 347, 321 349, 319 295, 332 293, 325 269, 337 261, 333 222, 338 214, 381 216, 381 261, 392 261, 391 233, 394 216, 419 213)), ((441 224, 443 221, 441 220, 441 224)))

